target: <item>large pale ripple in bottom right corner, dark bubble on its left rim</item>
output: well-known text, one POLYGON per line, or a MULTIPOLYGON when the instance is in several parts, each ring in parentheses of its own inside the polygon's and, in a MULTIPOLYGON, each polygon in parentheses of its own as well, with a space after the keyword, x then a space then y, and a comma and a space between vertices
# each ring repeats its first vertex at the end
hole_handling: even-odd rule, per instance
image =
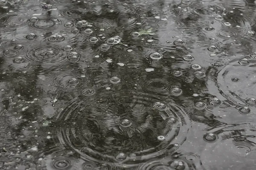
POLYGON ((247 169, 247 165, 255 165, 255 130, 255 125, 250 123, 224 125, 209 130, 204 135, 207 149, 201 154, 202 164, 206 169, 228 169, 232 164, 239 170, 247 169))

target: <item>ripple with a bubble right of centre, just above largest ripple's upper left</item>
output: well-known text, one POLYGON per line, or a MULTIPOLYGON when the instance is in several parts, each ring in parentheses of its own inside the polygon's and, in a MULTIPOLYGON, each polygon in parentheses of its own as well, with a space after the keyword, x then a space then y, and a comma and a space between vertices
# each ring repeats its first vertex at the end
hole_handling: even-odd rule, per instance
MULTIPOLYGON (((57 71, 49 77, 49 82, 54 83, 59 90, 65 92, 77 91, 88 83, 87 77, 82 76, 76 71, 57 71)), ((88 90, 88 89, 87 89, 88 90)), ((82 94, 90 93, 85 89, 82 94)), ((91 92, 92 94, 92 92, 91 92)), ((87 96, 87 95, 84 95, 87 96)))

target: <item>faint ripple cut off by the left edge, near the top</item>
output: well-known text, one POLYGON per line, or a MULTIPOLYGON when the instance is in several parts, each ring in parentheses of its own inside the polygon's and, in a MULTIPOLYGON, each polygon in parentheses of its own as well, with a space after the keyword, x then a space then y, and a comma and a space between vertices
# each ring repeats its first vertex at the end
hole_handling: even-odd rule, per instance
POLYGON ((0 17, 1 26, 19 27, 25 24, 25 14, 6 14, 0 17))

